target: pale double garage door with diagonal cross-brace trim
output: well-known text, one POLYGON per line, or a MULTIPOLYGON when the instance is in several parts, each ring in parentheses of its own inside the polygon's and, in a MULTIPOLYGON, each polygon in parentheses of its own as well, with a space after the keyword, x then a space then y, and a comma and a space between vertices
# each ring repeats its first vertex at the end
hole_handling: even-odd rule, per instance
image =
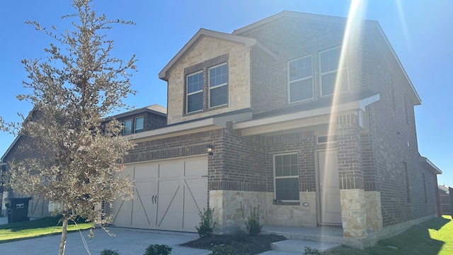
POLYGON ((196 232, 207 207, 207 159, 178 159, 127 166, 134 200, 113 203, 113 224, 196 232))

